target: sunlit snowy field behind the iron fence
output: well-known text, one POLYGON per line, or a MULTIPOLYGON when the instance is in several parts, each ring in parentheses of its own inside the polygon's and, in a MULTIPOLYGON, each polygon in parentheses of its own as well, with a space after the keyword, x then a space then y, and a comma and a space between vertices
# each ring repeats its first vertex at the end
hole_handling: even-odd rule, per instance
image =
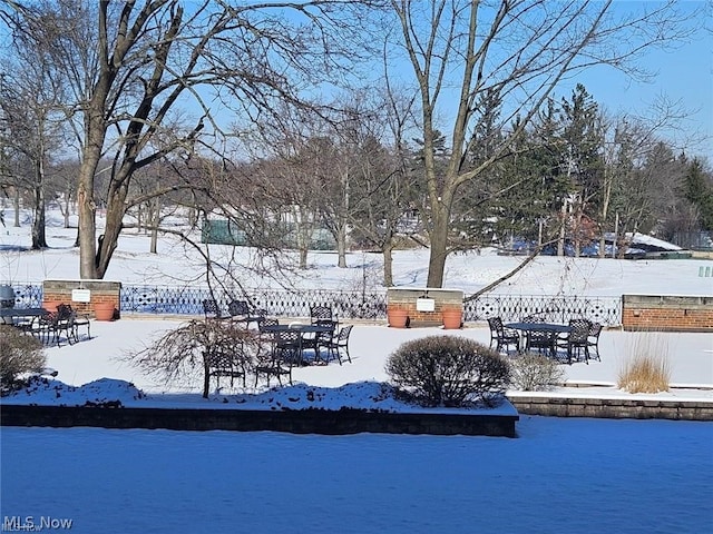
MULTIPOLYGON (((0 283, 39 283, 50 279, 76 279, 79 275, 79 254, 74 247, 76 229, 59 226, 60 219, 50 212, 47 239, 50 248, 28 251, 29 226, 9 226, 12 212, 6 208, 7 228, 0 228, 0 283)), ((101 219, 98 226, 101 227, 101 219)), ((148 254, 149 237, 127 230, 119 238, 117 251, 105 277, 125 284, 179 286, 191 280, 195 286, 202 279, 204 260, 175 236, 162 236, 158 254, 148 254)), ((212 259, 227 264, 236 254, 250 264, 254 258, 250 249, 212 246, 212 259)), ((487 248, 480 254, 452 255, 446 264, 445 287, 473 293, 515 268, 521 257, 498 256, 487 248)), ((336 267, 333 253, 311 253, 309 269, 290 273, 285 284, 296 287, 379 288, 382 258, 379 254, 353 251, 348 256, 348 268, 336 267)), ((618 296, 627 294, 713 295, 713 277, 699 276, 701 267, 713 267, 703 259, 623 260, 598 258, 558 258, 541 256, 499 286, 495 293, 512 295, 588 295, 618 296)), ((428 251, 400 250, 393 261, 394 286, 424 287, 428 275, 428 251)), ((258 277, 241 269, 241 281, 246 287, 275 287, 272 277, 258 277)))

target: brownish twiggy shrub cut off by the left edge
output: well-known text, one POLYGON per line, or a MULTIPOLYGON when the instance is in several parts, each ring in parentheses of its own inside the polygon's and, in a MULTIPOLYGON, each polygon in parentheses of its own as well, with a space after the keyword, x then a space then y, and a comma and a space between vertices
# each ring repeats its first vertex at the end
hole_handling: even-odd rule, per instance
POLYGON ((45 368, 42 344, 13 326, 0 326, 0 390, 8 392, 18 377, 45 368))

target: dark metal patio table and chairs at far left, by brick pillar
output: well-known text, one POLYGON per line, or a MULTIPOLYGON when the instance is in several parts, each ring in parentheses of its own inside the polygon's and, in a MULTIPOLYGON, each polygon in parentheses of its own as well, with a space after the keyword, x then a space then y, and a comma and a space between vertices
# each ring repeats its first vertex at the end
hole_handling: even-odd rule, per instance
POLYGON ((86 328, 86 338, 91 339, 89 317, 77 313, 69 304, 58 304, 56 309, 2 308, 0 318, 2 324, 37 337, 43 345, 61 347, 62 340, 74 345, 80 340, 80 328, 86 328))

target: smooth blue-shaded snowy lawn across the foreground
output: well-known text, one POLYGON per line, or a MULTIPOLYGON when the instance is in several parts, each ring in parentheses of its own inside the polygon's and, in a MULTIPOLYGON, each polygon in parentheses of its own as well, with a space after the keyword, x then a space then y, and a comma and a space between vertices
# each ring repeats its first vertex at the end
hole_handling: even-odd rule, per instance
POLYGON ((518 432, 2 428, 2 514, 78 533, 711 532, 713 425, 522 417, 518 432))

